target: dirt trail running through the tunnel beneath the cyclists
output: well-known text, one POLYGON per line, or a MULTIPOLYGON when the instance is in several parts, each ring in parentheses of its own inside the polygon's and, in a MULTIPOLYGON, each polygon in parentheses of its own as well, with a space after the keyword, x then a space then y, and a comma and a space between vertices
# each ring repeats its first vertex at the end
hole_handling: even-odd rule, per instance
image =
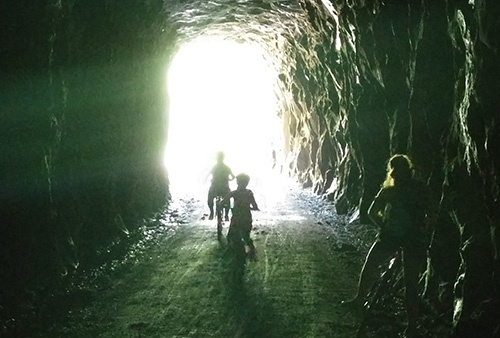
POLYGON ((225 245, 198 203, 193 221, 44 337, 354 337, 358 322, 339 303, 355 291, 363 249, 300 198, 254 213, 258 261, 243 286, 228 278, 225 245))

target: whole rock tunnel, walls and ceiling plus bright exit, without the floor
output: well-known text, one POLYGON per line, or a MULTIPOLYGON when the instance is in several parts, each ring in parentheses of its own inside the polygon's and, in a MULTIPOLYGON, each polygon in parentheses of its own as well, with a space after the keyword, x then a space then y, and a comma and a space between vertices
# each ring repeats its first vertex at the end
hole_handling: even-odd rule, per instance
POLYGON ((196 190, 215 152, 244 139, 228 159, 245 153, 262 164, 256 177, 272 171, 364 224, 388 158, 409 155, 439 200, 431 301, 449 315, 449 336, 500 335, 497 1, 0 8, 3 333, 126 255, 174 187, 196 190))

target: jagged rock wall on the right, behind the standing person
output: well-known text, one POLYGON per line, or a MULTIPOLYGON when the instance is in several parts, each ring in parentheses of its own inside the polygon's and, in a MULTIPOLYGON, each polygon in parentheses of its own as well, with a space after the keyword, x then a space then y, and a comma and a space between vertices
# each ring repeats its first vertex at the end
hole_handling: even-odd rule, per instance
POLYGON ((499 5, 302 5, 318 34, 291 42, 296 50, 315 51, 298 53, 298 64, 313 58, 314 67, 297 67, 293 84, 304 108, 294 118, 312 131, 296 148, 295 171, 305 185, 327 192, 340 213, 359 208, 366 221, 385 162, 394 153, 409 154, 440 200, 433 287, 441 288, 445 308, 454 309, 456 334, 470 334, 477 323, 461 319, 482 309, 484 300, 498 302, 492 243, 498 246, 500 27, 493 17, 499 5), (301 163, 304 156, 309 165, 301 163))

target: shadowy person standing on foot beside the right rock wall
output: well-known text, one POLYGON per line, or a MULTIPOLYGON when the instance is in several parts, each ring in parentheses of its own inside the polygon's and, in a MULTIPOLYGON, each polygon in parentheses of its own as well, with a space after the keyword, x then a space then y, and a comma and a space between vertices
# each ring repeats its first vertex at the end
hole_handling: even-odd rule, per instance
POLYGON ((414 178, 413 163, 408 156, 396 154, 389 159, 387 177, 368 208, 368 216, 379 232, 361 269, 356 297, 343 303, 363 306, 379 276, 379 266, 401 252, 408 317, 406 334, 413 336, 419 316, 418 278, 427 260, 427 234, 434 224, 436 209, 426 184, 414 178))

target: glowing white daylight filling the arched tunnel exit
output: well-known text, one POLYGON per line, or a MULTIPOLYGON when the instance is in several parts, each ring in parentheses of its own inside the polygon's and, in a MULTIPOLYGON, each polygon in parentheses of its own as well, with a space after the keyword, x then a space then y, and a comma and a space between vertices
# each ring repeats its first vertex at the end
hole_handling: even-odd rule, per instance
POLYGON ((279 198, 282 180, 272 168, 273 158, 279 162, 282 156, 283 127, 277 116, 277 72, 264 53, 250 43, 205 37, 175 55, 167 76, 165 151, 174 199, 205 200, 219 151, 235 175, 251 176, 249 188, 257 197, 279 198))

